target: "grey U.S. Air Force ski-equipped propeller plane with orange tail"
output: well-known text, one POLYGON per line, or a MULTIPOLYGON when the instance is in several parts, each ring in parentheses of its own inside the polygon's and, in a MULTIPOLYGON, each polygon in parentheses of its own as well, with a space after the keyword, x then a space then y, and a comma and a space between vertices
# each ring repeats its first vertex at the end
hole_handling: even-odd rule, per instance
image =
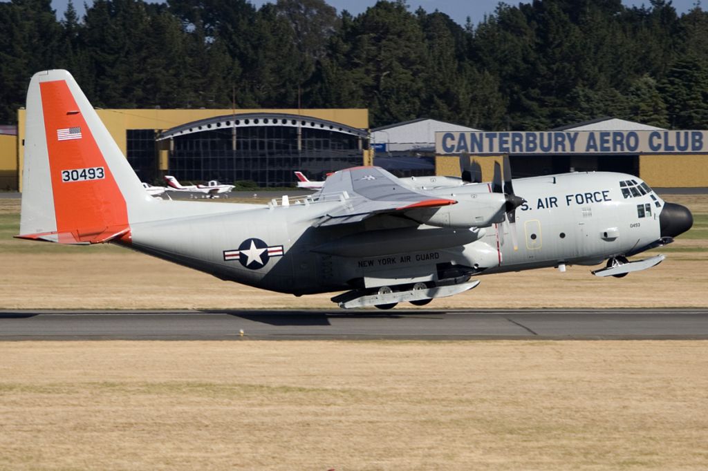
POLYGON ((607 260, 598 276, 653 267, 627 257, 670 243, 692 215, 633 175, 567 173, 512 180, 508 160, 481 182, 399 179, 376 167, 333 173, 302 199, 213 204, 154 199, 63 70, 27 95, 19 238, 115 243, 219 279, 300 296, 346 291, 342 308, 424 305, 480 275, 607 260))

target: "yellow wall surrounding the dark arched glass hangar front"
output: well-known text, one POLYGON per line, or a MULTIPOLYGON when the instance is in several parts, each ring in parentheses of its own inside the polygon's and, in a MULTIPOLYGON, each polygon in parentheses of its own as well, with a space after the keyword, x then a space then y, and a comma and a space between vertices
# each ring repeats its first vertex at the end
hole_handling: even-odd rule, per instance
MULTIPOLYGON (((360 108, 345 108, 336 110, 314 109, 314 110, 297 110, 297 109, 239 109, 235 110, 236 115, 244 115, 248 113, 287 113, 289 115, 301 115, 303 117, 314 117, 321 120, 340 122, 350 127, 359 129, 368 129, 369 127, 369 110, 360 108)), ((166 131, 181 124, 188 122, 205 120, 210 117, 232 115, 234 110, 96 110, 98 117, 101 118, 103 124, 108 129, 108 132, 116 144, 122 151, 123 155, 127 151, 127 129, 156 129, 157 131, 166 131)), ((25 114, 26 110, 18 110, 18 139, 22 142, 25 139, 25 114)), ((24 161, 24 146, 19 146, 18 153, 15 153, 15 160, 18 162, 19 171, 16 169, 15 178, 18 180, 17 187, 22 191, 22 168, 24 161), (19 153, 19 155, 18 155, 19 153)), ((160 152, 159 168, 167 169, 166 152, 160 152)), ((363 159, 363 156, 362 156, 363 159)))

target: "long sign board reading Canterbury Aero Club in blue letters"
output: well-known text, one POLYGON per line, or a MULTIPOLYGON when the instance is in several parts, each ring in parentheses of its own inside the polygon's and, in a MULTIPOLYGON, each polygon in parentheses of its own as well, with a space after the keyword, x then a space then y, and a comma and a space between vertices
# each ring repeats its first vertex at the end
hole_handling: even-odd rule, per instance
POLYGON ((435 153, 704 153, 708 131, 436 132, 435 153))

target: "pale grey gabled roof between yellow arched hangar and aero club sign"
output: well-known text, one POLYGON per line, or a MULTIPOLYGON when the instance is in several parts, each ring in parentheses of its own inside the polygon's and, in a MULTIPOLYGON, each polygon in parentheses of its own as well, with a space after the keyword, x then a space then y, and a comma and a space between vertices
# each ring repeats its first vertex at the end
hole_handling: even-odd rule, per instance
POLYGON ((472 127, 460 126, 450 122, 420 118, 418 120, 398 122, 371 130, 371 141, 375 144, 407 144, 407 149, 435 148, 435 132, 438 131, 479 131, 472 127))

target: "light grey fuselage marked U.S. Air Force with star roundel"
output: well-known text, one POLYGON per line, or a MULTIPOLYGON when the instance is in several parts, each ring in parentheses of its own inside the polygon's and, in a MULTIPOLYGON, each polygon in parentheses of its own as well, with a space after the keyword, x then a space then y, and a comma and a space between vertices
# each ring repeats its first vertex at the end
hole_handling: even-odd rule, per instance
MULTIPOLYGON (((486 183, 435 187, 434 180, 405 184, 458 201, 491 192, 486 183)), ((218 214, 136 223, 130 246, 220 279, 297 295, 598 264, 660 238, 664 202, 640 192, 641 183, 621 173, 514 180, 515 193, 526 199, 516 211, 518 250, 508 222, 453 229, 382 215, 316 227, 321 216, 346 204, 346 195, 234 211, 224 204, 218 214), (635 189, 625 185, 623 193, 620 182, 635 189)))

